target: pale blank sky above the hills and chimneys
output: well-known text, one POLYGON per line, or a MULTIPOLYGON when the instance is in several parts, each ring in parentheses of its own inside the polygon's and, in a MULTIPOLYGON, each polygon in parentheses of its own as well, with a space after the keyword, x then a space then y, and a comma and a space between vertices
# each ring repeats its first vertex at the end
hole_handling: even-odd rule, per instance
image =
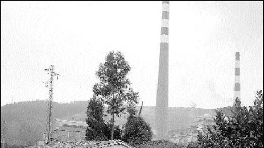
MULTIPOLYGON (((1 106, 48 99, 89 100, 95 72, 121 51, 144 106, 155 106, 161 1, 1 1, 1 106)), ((263 1, 170 1, 169 107, 233 103, 240 52, 242 105, 263 90, 263 1)))

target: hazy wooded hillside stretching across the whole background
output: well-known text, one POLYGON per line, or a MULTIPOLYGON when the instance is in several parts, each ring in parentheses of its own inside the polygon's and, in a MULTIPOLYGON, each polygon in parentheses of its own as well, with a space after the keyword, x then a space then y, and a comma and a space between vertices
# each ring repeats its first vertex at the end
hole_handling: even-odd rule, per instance
MULTIPOLYGON (((56 103, 53 107, 53 119, 85 121, 85 111, 88 101, 74 103, 56 103)), ((139 108, 139 106, 138 106, 139 108)), ((196 125, 196 117, 205 113, 215 115, 214 109, 195 109, 183 107, 169 108, 169 130, 187 128, 196 125)), ((142 117, 155 129, 155 106, 143 106, 142 117)), ((1 106, 1 132, 7 126, 6 139, 11 144, 35 144, 45 132, 47 118, 47 103, 45 101, 27 101, 1 106), (3 121, 5 124, 2 124, 3 121)), ((110 117, 106 116, 105 120, 110 117)), ((116 124, 125 124, 127 115, 122 115, 116 124)))

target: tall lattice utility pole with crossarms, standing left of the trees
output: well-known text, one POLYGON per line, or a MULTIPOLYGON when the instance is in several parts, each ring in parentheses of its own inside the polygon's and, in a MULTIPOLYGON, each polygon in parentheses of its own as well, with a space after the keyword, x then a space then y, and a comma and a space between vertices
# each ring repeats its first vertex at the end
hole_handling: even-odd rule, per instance
POLYGON ((47 130, 46 130, 46 136, 47 136, 47 144, 51 144, 51 138, 52 138, 52 100, 53 100, 53 77, 58 75, 54 72, 54 65, 50 65, 48 69, 44 69, 47 71, 47 74, 50 75, 50 78, 48 81, 44 82, 46 84, 46 87, 48 87, 49 84, 49 100, 48 100, 48 120, 47 120, 47 130))

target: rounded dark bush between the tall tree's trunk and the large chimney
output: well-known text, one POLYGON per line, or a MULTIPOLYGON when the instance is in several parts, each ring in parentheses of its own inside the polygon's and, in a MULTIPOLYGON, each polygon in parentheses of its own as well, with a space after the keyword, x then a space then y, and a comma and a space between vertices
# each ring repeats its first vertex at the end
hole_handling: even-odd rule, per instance
POLYGON ((151 141, 152 135, 149 124, 142 117, 130 116, 125 124, 125 133, 122 139, 132 146, 136 146, 151 141))

